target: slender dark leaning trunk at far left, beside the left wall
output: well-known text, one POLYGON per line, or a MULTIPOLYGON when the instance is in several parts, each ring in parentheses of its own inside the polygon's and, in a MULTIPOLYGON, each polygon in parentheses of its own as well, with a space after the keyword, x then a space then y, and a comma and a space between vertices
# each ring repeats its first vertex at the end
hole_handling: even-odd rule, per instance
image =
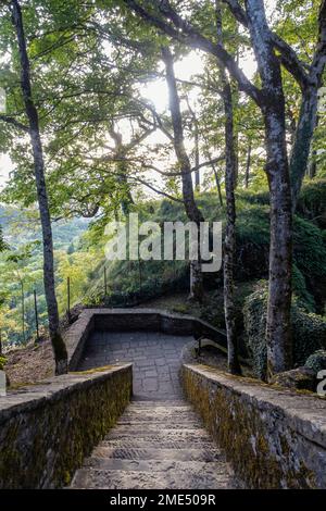
POLYGON ((11 1, 10 7, 18 41, 21 87, 25 111, 29 122, 29 135, 34 157, 34 172, 42 229, 43 282, 49 316, 49 332, 55 359, 55 374, 64 374, 67 372, 67 351, 59 327, 59 312, 54 287, 52 228, 45 180, 45 162, 39 130, 38 112, 32 97, 30 67, 26 49, 21 7, 16 0, 11 1))

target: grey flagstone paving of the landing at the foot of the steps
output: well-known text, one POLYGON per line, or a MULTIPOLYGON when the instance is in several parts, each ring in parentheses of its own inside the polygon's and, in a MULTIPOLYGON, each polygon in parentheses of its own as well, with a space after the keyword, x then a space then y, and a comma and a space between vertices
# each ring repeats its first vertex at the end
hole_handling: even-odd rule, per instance
POLYGON ((95 332, 85 346, 79 370, 133 362, 134 399, 179 399, 181 350, 192 340, 191 336, 160 332, 95 332))

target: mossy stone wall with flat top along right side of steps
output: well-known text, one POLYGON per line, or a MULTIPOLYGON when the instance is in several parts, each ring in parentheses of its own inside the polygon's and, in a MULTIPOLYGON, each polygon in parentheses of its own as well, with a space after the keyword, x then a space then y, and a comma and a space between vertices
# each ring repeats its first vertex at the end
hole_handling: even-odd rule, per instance
POLYGON ((202 365, 183 385, 247 487, 326 488, 326 400, 202 365))

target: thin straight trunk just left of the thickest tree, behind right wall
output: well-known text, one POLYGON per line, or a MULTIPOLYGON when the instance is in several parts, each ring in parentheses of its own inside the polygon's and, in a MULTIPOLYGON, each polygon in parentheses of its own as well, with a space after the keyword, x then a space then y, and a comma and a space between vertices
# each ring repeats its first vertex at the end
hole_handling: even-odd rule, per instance
MULTIPOLYGON (((217 41, 223 45, 222 11, 220 0, 215 1, 217 41)), ((225 112, 225 191, 226 233, 224 240, 224 311, 227 334, 227 362, 231 374, 241 374, 238 359, 238 339, 235 311, 235 257, 236 257, 236 199, 237 179, 236 136, 234 125, 233 91, 224 67, 220 68, 223 86, 222 99, 225 112)))

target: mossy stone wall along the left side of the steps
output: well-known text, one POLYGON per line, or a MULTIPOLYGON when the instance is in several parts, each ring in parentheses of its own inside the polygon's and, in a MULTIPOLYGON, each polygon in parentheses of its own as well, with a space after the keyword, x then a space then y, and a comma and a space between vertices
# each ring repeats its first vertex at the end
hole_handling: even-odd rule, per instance
POLYGON ((0 398, 0 488, 60 488, 114 425, 131 365, 57 376, 0 398))

